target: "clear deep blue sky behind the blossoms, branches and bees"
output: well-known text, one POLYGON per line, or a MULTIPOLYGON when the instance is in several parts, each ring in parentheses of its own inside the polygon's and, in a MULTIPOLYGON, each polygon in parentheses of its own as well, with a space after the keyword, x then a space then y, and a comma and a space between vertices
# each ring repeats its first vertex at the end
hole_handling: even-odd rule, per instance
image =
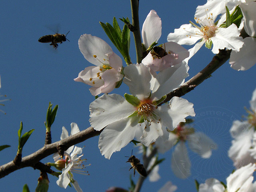
MULTIPOLYGON (((174 32, 182 24, 193 20, 198 5, 206 0, 140 0, 140 29, 151 9, 156 10, 162 19, 162 37, 158 42, 166 42, 168 33, 174 32)), ((56 120, 52 126, 52 141, 58 141, 65 126, 70 132, 70 123, 76 122, 80 130, 90 126, 89 104, 94 100, 88 90, 89 86, 74 82, 74 78, 90 63, 84 59, 78 48, 78 39, 82 34, 92 34, 108 42, 114 52, 118 51, 108 39, 99 21, 112 23, 112 19, 128 17, 131 20, 130 1, 4 1, 0 8, 2 19, 0 22, 0 58, 1 58, 1 94, 6 94, 11 101, 0 106, 6 115, 0 113, 0 145, 9 144, 0 152, 0 164, 13 160, 18 146, 17 131, 20 121, 23 131, 35 129, 23 149, 23 156, 31 154, 44 145, 46 109, 49 102, 59 105, 56 120), (47 34, 54 34, 54 26, 60 26, 59 32, 66 34, 70 42, 63 42, 57 51, 42 44, 38 38, 47 34), (52 27, 51 31, 48 26, 52 27)), ((122 22, 119 22, 122 26, 122 22)), ((132 34, 131 34, 132 36, 132 34)), ((186 47, 190 48, 190 47, 186 47)), ((119 54, 121 56, 121 54, 119 54)), ((131 39, 130 56, 135 62, 133 39, 131 39)), ((189 61, 191 78, 202 70, 214 54, 202 48, 189 61)), ((125 64, 125 63, 124 63, 125 64)), ((218 144, 210 159, 202 159, 189 151, 192 161, 192 175, 186 180, 178 179, 170 169, 172 151, 160 154, 166 160, 160 165, 158 182, 149 182, 142 186, 142 192, 157 191, 167 181, 178 186, 178 192, 196 191, 194 179, 204 182, 214 177, 225 182, 225 178, 234 167, 227 156, 231 145, 229 134, 232 121, 241 119, 245 114, 244 106, 249 108, 248 101, 256 87, 256 66, 247 71, 238 72, 230 68, 228 63, 221 66, 212 77, 206 79, 195 90, 186 94, 189 102, 194 104, 196 118, 194 127, 202 131, 218 144)), ((123 95, 128 92, 125 84, 112 93, 123 95)), ((98 136, 78 144, 84 147, 83 153, 87 158, 90 176, 74 175, 84 191, 105 191, 110 186, 128 188, 130 185, 129 165, 125 163, 134 149, 132 144, 112 155, 110 160, 101 156, 98 149, 98 136)), ((134 149, 134 154, 137 150, 134 149)), ((140 158, 139 154, 136 154, 140 158)), ((52 156, 42 162, 53 162, 52 156)), ((40 172, 33 168, 18 170, 0 179, 2 191, 21 191, 24 184, 28 184, 31 191, 37 185, 40 172)), ((56 178, 49 175, 49 191, 68 192, 56 185, 56 178)), ((135 175, 134 181, 138 179, 135 175)))

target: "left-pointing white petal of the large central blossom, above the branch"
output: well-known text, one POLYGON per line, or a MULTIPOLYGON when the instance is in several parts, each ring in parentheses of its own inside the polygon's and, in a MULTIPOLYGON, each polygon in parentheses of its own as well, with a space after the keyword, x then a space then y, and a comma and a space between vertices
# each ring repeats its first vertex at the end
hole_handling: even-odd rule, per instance
POLYGON ((90 104, 89 122, 95 130, 130 116, 136 108, 118 94, 104 94, 90 104))

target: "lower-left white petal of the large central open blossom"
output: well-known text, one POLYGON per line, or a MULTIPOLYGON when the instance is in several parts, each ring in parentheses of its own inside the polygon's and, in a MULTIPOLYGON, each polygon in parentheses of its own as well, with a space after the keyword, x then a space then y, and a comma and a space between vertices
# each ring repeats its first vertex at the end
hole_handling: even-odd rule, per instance
POLYGON ((134 118, 124 118, 109 124, 100 134, 98 147, 101 154, 110 159, 114 152, 120 151, 134 139, 137 128, 138 119, 134 121, 134 118))

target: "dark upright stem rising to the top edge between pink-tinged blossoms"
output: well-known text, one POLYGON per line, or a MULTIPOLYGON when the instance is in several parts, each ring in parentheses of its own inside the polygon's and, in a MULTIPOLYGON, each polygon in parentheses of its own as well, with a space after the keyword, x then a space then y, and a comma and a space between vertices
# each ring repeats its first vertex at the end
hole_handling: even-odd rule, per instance
POLYGON ((134 26, 133 36, 134 36, 134 43, 136 48, 136 55, 137 55, 137 63, 141 63, 142 61, 142 42, 140 36, 140 23, 139 23, 139 1, 138 0, 131 0, 131 9, 132 9, 132 25, 134 26))

